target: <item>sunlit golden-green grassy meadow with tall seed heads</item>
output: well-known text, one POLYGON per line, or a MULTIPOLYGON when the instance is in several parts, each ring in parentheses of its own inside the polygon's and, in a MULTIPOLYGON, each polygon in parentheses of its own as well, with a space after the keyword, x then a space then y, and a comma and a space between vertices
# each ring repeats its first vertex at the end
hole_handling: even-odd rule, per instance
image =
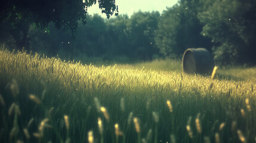
POLYGON ((0 51, 0 142, 256 142, 256 67, 86 65, 0 51))

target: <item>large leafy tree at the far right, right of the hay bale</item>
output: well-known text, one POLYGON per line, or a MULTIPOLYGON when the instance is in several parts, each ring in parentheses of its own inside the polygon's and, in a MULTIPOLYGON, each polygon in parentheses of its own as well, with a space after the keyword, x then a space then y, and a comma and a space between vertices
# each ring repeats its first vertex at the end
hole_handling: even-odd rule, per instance
POLYGON ((221 64, 252 63, 256 54, 256 1, 216 0, 198 14, 202 34, 214 42, 214 58, 221 64))

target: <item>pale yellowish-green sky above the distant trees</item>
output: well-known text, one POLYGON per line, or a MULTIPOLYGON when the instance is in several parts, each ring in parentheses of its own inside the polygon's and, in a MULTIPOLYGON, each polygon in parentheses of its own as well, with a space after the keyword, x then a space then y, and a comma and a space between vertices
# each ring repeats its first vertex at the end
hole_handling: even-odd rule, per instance
MULTIPOLYGON (((161 14, 166 7, 172 7, 177 4, 178 0, 116 0, 119 14, 128 14, 131 16, 134 12, 141 11, 159 11, 161 14)), ((106 14, 101 14, 98 3, 88 8, 89 14, 100 14, 106 17, 106 14)))

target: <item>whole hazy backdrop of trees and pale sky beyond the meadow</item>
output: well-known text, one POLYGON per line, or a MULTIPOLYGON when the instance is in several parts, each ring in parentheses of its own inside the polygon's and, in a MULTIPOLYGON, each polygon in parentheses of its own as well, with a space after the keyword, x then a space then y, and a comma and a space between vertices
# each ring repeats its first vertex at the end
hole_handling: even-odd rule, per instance
POLYGON ((117 0, 118 14, 107 15, 98 2, 87 14, 79 1, 65 2, 10 7, 1 45, 82 63, 180 60, 187 48, 206 48, 218 66, 256 64, 256 1, 117 0))

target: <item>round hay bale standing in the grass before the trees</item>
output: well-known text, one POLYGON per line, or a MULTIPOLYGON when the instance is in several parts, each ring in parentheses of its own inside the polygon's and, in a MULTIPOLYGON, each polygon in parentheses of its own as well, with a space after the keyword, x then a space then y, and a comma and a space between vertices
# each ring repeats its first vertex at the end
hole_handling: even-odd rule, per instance
POLYGON ((214 59, 205 48, 187 49, 182 57, 184 73, 211 74, 214 69, 214 59))

